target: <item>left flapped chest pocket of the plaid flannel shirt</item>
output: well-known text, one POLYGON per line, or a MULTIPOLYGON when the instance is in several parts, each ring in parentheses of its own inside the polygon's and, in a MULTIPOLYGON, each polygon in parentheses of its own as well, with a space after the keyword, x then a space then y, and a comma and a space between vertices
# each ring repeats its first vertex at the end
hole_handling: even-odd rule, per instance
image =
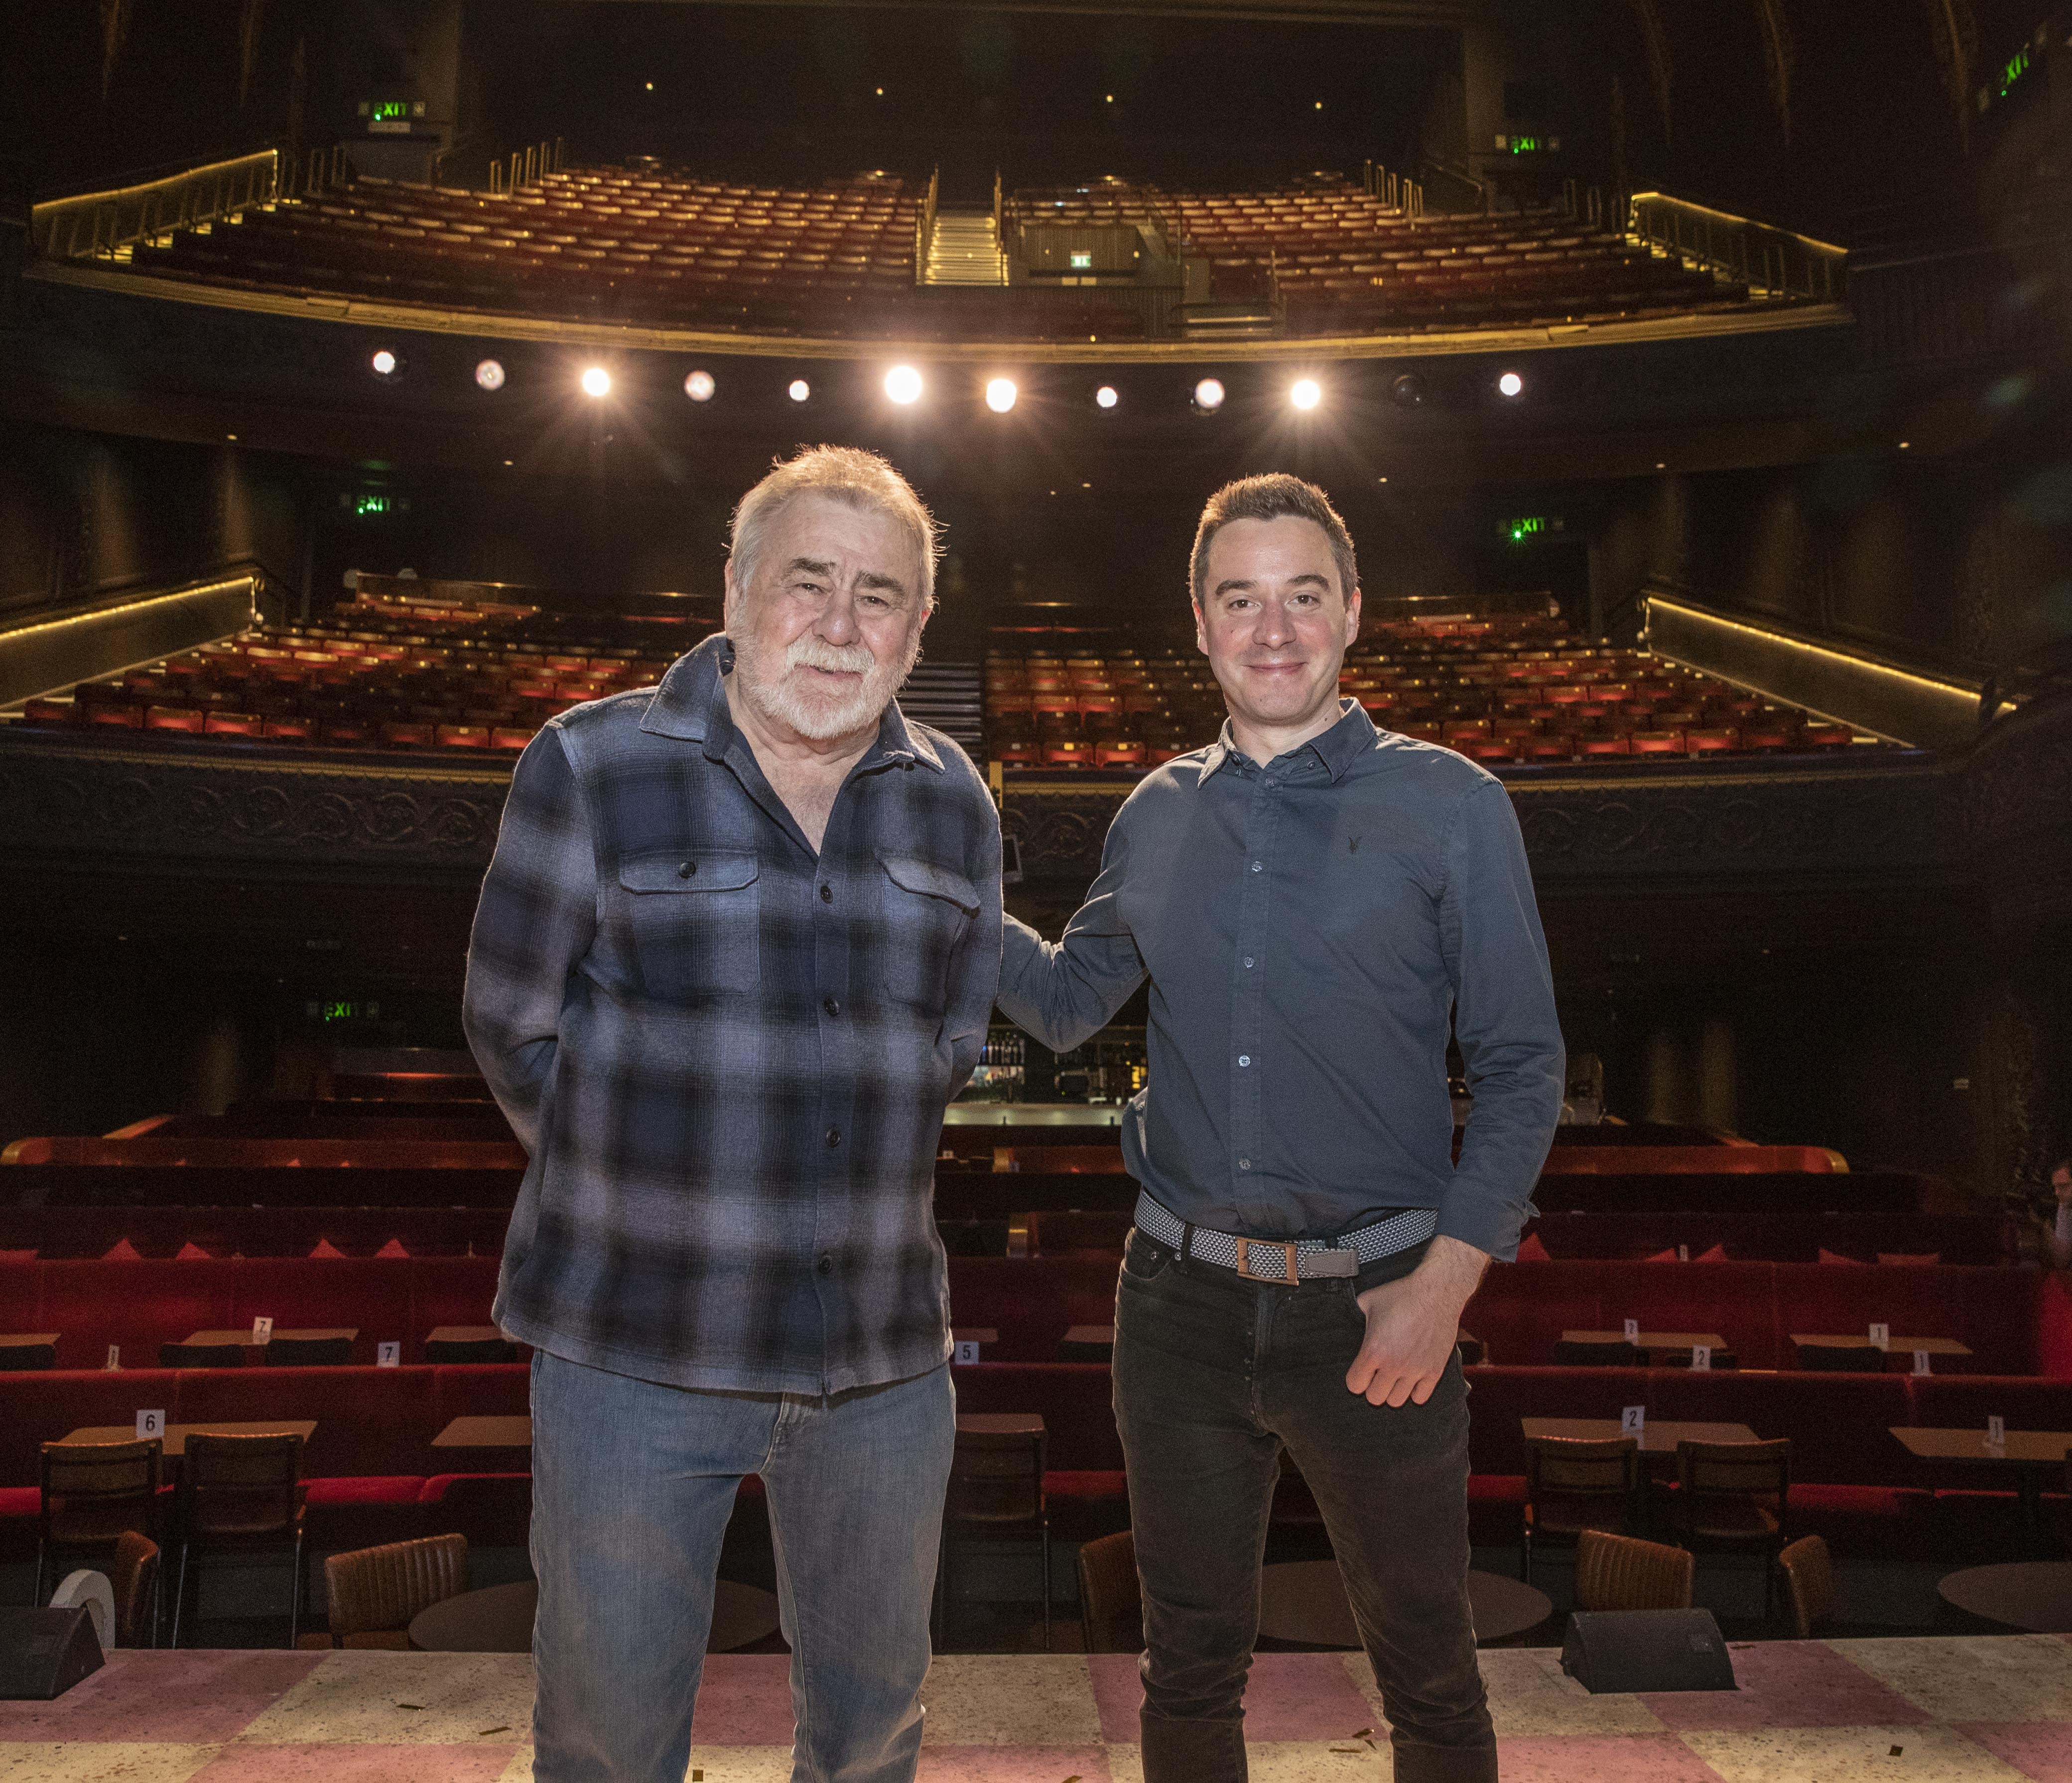
POLYGON ((657 1001, 698 1001, 762 983, 756 856, 694 848, 620 862, 634 960, 657 1001))

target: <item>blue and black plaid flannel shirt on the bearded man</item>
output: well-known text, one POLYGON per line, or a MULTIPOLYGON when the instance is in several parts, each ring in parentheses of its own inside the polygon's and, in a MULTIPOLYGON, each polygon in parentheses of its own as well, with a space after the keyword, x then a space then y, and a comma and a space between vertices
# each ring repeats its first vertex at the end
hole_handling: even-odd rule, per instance
POLYGON ((495 1319, 646 1381, 839 1393, 949 1356, 934 1155, 992 1014, 1001 827, 893 705, 814 854, 729 668, 709 639, 512 777, 464 1001, 530 1153, 495 1319))

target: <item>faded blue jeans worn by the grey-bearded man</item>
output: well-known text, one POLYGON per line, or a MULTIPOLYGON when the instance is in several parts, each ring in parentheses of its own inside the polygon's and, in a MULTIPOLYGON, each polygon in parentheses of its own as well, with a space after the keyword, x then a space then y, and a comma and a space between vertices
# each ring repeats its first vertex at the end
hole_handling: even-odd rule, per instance
POLYGON ((700 1393, 533 1358, 533 1775, 684 1783, 719 1543, 769 1493, 794 1783, 912 1783, 949 1368, 831 1399, 700 1393))

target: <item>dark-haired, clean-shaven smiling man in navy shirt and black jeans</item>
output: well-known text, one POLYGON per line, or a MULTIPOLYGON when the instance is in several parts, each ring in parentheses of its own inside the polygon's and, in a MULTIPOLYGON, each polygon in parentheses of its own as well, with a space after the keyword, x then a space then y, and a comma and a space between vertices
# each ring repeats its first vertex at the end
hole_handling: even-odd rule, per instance
POLYGON ((1196 636, 1222 736, 1148 775, 1061 947, 1001 1008, 1073 1047, 1150 979, 1115 1412, 1144 1580, 1144 1779, 1241 1783, 1283 1447, 1324 1511, 1397 1783, 1490 1783, 1467 1609, 1461 1306, 1513 1256, 1562 1045, 1504 788, 1339 699, 1345 522, 1295 477, 1210 498, 1196 636), (1475 1111, 1459 1163, 1446 1037, 1475 1111))

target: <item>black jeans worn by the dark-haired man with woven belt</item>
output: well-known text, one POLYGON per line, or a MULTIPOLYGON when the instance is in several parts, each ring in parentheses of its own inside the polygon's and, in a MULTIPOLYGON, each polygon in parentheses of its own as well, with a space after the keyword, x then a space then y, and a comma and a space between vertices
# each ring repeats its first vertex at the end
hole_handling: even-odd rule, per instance
POLYGON ((1245 1671, 1280 1447, 1330 1532, 1399 1783, 1494 1783, 1467 1603, 1467 1381, 1423 1406, 1345 1387, 1349 1279, 1245 1281, 1129 1234, 1115 1420, 1144 1580, 1144 1783, 1245 1783, 1245 1671))

